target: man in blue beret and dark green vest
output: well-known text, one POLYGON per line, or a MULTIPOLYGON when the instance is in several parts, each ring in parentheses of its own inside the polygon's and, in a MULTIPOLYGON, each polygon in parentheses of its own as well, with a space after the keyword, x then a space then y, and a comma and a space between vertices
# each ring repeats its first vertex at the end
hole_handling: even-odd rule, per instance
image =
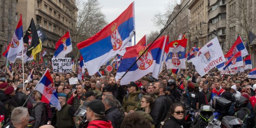
POLYGON ((58 93, 58 99, 61 104, 61 110, 56 111, 56 128, 73 128, 76 118, 74 116, 76 110, 73 106, 67 104, 67 95, 58 93))

